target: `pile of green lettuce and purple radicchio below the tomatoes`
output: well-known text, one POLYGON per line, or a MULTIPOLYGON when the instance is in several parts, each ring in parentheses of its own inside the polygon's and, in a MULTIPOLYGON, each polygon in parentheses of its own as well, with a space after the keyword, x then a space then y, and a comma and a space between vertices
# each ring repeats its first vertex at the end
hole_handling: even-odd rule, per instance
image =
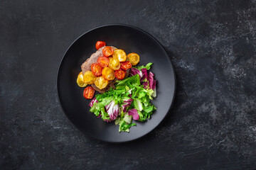
MULTIPOLYGON (((150 102, 153 99, 152 97, 156 96, 154 95, 156 89, 150 88, 149 75, 146 72, 146 70, 150 69, 151 64, 134 67, 142 72, 142 77, 139 74, 135 74, 127 79, 116 81, 115 89, 110 89, 104 94, 97 94, 95 98, 98 103, 93 103, 90 111, 108 122, 113 118, 110 119, 106 106, 114 102, 119 109, 119 114, 114 118, 114 123, 119 125, 119 132, 129 132, 129 128, 136 125, 136 123, 132 123, 132 119, 144 122, 150 118, 154 110, 156 110, 150 102), (133 112, 135 110, 137 111, 136 114, 133 112)), ((150 76, 152 78, 154 74, 150 72, 150 76)), ((154 82, 150 81, 152 87, 155 85, 154 82)))

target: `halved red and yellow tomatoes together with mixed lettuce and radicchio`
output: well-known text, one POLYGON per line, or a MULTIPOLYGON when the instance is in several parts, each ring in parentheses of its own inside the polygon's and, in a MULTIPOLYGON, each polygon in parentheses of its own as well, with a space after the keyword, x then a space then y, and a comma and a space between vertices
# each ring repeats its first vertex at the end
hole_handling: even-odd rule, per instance
MULTIPOLYGON (((96 48, 97 44, 99 44, 99 42, 96 43, 96 48)), ((149 62, 146 66, 136 66, 139 63, 139 60, 137 60, 139 59, 139 55, 136 53, 133 52, 130 53, 132 55, 129 54, 130 56, 135 56, 132 58, 133 60, 129 58, 129 55, 126 55, 124 50, 120 52, 120 49, 110 49, 107 55, 105 55, 104 51, 106 47, 104 42, 102 46, 102 54, 104 56, 102 57, 112 57, 110 60, 119 62, 119 68, 116 67, 114 70, 113 67, 110 66, 110 61, 107 64, 93 63, 92 66, 99 64, 100 67, 102 67, 97 69, 96 74, 95 71, 93 71, 93 67, 91 69, 92 71, 85 72, 92 72, 95 76, 94 81, 91 78, 89 80, 87 74, 80 72, 77 79, 78 86, 82 85, 82 87, 85 87, 89 81, 90 84, 95 84, 96 87, 88 86, 83 93, 85 98, 92 99, 89 103, 90 112, 107 123, 114 122, 115 125, 119 125, 119 132, 129 132, 129 128, 136 125, 133 120, 144 122, 146 119, 151 118, 151 115, 156 110, 156 107, 150 102, 156 97, 156 80, 154 79, 154 74, 149 71, 153 63, 149 62), (115 55, 114 52, 116 52, 115 55), (135 62, 134 59, 136 60, 135 62), (109 83, 109 80, 105 78, 106 76, 103 76, 104 73, 102 72, 102 70, 106 68, 112 69, 114 72, 114 78, 112 77, 114 86, 111 86, 110 89, 107 89, 107 91, 104 91, 102 94, 97 94, 95 98, 93 98, 95 89, 97 91, 100 89, 97 86, 100 83, 96 82, 96 79, 103 79, 101 81, 105 84, 105 88, 109 83), (122 72, 122 74, 119 74, 119 72, 122 72)), ((101 47, 98 47, 97 50, 100 48, 101 47)))

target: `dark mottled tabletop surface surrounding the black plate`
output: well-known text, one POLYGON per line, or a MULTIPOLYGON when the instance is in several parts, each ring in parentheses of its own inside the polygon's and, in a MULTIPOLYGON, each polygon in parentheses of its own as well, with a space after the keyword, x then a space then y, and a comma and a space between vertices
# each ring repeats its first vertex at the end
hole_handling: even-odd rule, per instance
POLYGON ((0 169, 255 169, 255 18, 255 0, 1 0, 0 169), (76 130, 55 84, 69 45, 108 23, 153 35, 177 79, 164 123, 120 145, 76 130))

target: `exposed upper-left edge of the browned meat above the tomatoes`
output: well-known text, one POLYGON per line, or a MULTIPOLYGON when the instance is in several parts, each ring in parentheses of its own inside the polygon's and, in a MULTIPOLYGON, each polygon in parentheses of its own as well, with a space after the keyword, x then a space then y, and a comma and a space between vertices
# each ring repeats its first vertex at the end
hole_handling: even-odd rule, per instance
MULTIPOLYGON (((104 46, 105 47, 105 46, 104 46)), ((103 54, 102 54, 102 50, 104 47, 101 47, 99 50, 97 50, 97 52, 93 53, 90 58, 88 58, 84 63, 82 63, 81 65, 81 69, 82 69, 82 74, 85 74, 85 72, 87 72, 88 70, 91 71, 91 68, 90 66, 97 62, 97 59, 99 57, 101 57, 103 54)), ((112 47, 114 50, 117 49, 116 47, 114 46, 110 46, 112 47)))

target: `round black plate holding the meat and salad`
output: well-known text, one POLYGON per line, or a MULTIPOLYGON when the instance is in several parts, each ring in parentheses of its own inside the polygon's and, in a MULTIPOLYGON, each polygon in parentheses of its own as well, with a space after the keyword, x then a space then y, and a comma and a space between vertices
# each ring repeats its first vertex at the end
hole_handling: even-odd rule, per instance
POLYGON ((126 25, 102 26, 81 35, 65 52, 57 77, 58 97, 68 119, 85 135, 106 142, 136 140, 154 130, 171 108, 175 86, 174 68, 164 47, 149 33, 126 25), (144 123, 134 121, 137 126, 130 128, 129 133, 118 132, 118 125, 105 123, 90 113, 90 100, 82 96, 85 88, 80 88, 76 84, 77 76, 81 72, 80 65, 96 51, 97 40, 123 49, 127 54, 136 52, 140 56, 139 65, 154 63, 151 72, 155 74, 157 81, 157 97, 152 103, 157 110, 151 119, 144 123))

